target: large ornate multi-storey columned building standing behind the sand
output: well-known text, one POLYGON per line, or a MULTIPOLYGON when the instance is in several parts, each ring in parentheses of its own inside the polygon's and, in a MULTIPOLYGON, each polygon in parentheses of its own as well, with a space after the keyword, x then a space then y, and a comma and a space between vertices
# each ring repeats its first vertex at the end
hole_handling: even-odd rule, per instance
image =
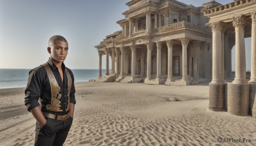
MULTIPOLYGON (((191 85, 212 79, 212 29, 203 12, 221 4, 213 0, 195 7, 177 0, 131 0, 126 5, 125 19, 117 21, 122 30, 95 46, 98 81, 191 85), (102 55, 106 55, 105 75, 102 55)), ((231 74, 230 63, 225 77, 231 74)))

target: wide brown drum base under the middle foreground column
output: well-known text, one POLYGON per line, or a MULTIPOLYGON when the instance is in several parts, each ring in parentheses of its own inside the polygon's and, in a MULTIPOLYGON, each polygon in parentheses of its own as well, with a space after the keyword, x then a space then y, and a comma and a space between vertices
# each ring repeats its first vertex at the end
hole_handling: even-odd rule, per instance
POLYGON ((232 115, 249 114, 249 84, 227 84, 227 112, 232 115))

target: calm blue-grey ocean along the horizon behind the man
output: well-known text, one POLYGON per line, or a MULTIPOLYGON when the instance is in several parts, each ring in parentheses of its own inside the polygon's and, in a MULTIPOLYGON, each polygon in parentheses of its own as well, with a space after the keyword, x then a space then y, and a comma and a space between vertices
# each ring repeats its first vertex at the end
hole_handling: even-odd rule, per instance
MULTIPOLYGON (((0 89, 26 87, 31 69, 0 69, 0 89)), ((71 69, 75 82, 95 80, 99 69, 71 69)), ((106 69, 102 69, 102 75, 106 69)))

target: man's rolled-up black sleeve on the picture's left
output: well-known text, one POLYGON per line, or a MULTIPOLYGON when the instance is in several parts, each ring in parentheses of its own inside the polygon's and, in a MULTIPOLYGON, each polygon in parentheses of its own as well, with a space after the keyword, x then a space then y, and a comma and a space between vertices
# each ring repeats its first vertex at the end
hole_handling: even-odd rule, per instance
POLYGON ((39 97, 41 94, 41 79, 36 70, 29 72, 29 79, 27 87, 25 90, 25 106, 30 112, 30 109, 33 109, 37 106, 40 106, 38 103, 39 97))

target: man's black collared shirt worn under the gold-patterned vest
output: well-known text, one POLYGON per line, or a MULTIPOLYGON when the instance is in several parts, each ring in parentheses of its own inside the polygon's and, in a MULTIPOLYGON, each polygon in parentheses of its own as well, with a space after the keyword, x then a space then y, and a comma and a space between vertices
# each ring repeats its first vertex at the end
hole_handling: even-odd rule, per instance
MULTIPOLYGON (((61 94, 61 110, 63 111, 60 113, 60 115, 63 115, 65 113, 65 110, 67 109, 67 102, 68 102, 68 96, 67 96, 67 74, 65 73, 65 65, 62 63, 61 69, 63 70, 63 83, 61 79, 61 74, 58 72, 58 68, 55 66, 54 63, 49 59, 47 61, 49 64, 52 73, 55 76, 55 79, 58 82, 58 86, 61 88, 59 94, 61 94)), ((70 90, 70 103, 76 104, 75 100, 75 86, 74 86, 74 75, 72 71, 68 68, 66 68, 68 72, 70 73, 70 76, 72 78, 72 87, 70 90)), ((30 109, 33 109, 37 106, 40 106, 38 100, 40 97, 40 102, 42 112, 48 112, 48 113, 55 113, 52 111, 49 111, 46 109, 47 104, 51 104, 51 87, 49 83, 49 79, 47 76, 47 72, 44 69, 44 66, 38 66, 35 69, 32 69, 29 72, 29 79, 28 79, 28 84, 25 90, 25 105, 30 112, 30 109)))

